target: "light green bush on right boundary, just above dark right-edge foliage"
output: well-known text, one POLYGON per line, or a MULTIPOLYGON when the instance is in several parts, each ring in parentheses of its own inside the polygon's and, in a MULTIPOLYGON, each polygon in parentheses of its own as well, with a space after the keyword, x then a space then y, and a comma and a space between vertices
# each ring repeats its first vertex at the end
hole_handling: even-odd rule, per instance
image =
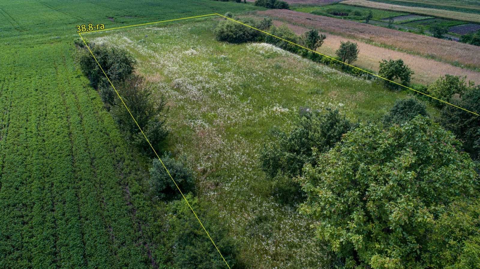
MULTIPOLYGON (((428 93, 445 102, 449 102, 454 94, 463 94, 471 86, 465 81, 467 77, 460 77, 446 74, 428 86, 428 93)), ((436 102, 437 105, 444 105, 443 102, 436 102)))

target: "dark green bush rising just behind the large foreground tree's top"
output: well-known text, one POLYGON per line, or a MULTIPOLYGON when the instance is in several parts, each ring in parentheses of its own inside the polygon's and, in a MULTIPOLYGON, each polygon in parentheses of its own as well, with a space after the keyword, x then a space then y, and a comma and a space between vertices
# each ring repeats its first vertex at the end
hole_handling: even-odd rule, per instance
POLYGON ((421 115, 428 117, 427 107, 415 97, 397 99, 395 105, 385 113, 382 121, 385 126, 402 124, 421 115))

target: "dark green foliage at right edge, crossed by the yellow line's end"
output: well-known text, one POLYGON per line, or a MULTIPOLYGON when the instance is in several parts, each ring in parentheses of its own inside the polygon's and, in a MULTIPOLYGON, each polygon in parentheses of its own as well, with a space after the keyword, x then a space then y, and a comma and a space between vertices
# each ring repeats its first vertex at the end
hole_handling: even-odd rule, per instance
MULTIPOLYGON (((452 98, 450 103, 479 113, 480 86, 469 87, 460 97, 452 98)), ((470 153, 473 159, 479 159, 480 117, 453 105, 444 105, 440 112, 440 124, 445 129, 452 131, 459 140, 463 141, 463 148, 470 153)))

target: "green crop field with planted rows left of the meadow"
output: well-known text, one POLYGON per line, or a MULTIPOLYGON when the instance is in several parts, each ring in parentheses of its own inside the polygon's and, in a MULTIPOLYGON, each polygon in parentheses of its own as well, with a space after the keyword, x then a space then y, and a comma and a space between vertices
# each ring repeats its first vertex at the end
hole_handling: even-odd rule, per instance
POLYGON ((143 201, 129 157, 118 155, 123 138, 86 81, 70 83, 80 73, 64 51, 27 51, 49 67, 2 54, 0 267, 142 268, 147 250, 131 213, 142 212, 143 201), (22 87, 25 80, 32 87, 22 87))

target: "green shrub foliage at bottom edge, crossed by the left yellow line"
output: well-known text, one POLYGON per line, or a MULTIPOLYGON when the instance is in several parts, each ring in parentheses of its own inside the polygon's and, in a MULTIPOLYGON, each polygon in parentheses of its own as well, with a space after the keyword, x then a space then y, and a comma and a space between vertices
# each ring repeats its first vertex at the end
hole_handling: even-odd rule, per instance
MULTIPOLYGON (((204 227, 210 231, 210 236, 215 242, 231 268, 242 268, 236 259, 237 246, 229 236, 223 220, 210 209, 203 209, 202 204, 192 195, 186 195, 192 208, 202 220, 204 227)), ((225 262, 218 254, 204 229, 193 215, 187 203, 175 200, 168 204, 167 216, 167 249, 171 252, 174 268, 181 269, 212 269, 225 268, 225 262)))

